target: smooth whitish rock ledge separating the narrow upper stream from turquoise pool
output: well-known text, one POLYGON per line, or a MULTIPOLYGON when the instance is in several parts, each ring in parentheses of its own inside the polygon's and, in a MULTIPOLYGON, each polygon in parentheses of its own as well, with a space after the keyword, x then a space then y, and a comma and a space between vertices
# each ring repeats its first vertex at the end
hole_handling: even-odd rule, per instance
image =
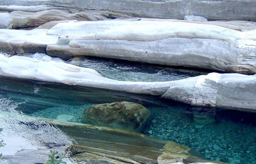
POLYGON ((0 75, 162 96, 195 106, 256 110, 256 75, 209 73, 176 81, 132 82, 104 78, 98 72, 66 63, 0 55, 0 75), (18 63, 18 65, 17 65, 18 63), (19 71, 16 71, 19 70, 19 71))

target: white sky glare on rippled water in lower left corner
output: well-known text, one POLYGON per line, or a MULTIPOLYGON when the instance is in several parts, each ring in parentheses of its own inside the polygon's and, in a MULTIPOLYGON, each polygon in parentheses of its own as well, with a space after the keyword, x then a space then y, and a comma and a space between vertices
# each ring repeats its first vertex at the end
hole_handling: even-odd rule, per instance
MULTIPOLYGON (((1 93, 1 92, 0 92, 1 93)), ((22 95, 20 95, 22 96, 22 95)), ((71 144, 69 136, 52 125, 36 118, 22 115, 16 108, 22 103, 0 96, 0 140, 5 143, 0 148, 3 156, 15 155, 23 149, 37 150, 71 144)))

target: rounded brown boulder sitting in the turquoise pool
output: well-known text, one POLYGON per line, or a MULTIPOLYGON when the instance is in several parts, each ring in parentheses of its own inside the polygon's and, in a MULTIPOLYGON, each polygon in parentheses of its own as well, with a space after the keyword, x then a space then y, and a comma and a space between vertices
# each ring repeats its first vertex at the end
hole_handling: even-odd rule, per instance
POLYGON ((83 123, 141 131, 151 112, 134 102, 113 102, 93 105, 83 113, 83 123))

